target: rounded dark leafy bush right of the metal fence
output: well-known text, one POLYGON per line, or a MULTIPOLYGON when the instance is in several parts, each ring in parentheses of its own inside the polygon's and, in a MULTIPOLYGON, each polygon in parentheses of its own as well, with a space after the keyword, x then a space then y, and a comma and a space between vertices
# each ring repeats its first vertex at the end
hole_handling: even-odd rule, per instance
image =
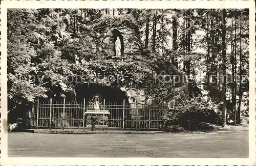
POLYGON ((170 126, 181 126, 185 130, 212 130, 214 128, 207 123, 221 122, 220 116, 215 112, 217 106, 209 106, 209 103, 200 99, 183 101, 163 116, 163 128, 171 130, 170 126))

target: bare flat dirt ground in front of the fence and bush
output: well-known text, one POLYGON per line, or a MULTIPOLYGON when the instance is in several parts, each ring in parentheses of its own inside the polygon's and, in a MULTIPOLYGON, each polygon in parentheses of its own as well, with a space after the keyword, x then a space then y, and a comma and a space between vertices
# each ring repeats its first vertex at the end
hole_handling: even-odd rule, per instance
POLYGON ((248 123, 214 132, 155 134, 8 133, 9 157, 240 157, 249 155, 248 123))

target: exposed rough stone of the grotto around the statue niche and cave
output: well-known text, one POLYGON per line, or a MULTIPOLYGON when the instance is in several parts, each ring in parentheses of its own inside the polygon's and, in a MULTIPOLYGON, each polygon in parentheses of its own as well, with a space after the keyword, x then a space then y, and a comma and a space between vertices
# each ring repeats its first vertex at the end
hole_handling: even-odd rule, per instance
MULTIPOLYGON (((165 85, 166 87, 173 86, 174 88, 172 89, 172 91, 163 90, 162 93, 165 94, 165 96, 167 97, 164 98, 162 102, 170 103, 177 95, 180 95, 181 98, 188 97, 188 84, 185 74, 183 72, 180 72, 176 67, 174 67, 174 65, 170 63, 167 65, 155 65, 154 63, 156 63, 157 60, 152 60, 151 62, 149 61, 151 60, 151 58, 144 56, 144 54, 142 53, 143 50, 141 48, 142 43, 137 31, 138 25, 132 15, 121 15, 119 17, 112 17, 109 15, 104 16, 100 18, 99 22, 94 25, 93 29, 95 31, 93 34, 95 37, 93 37, 93 39, 90 38, 89 41, 92 41, 91 49, 93 49, 93 52, 96 53, 97 56, 100 54, 100 56, 103 56, 101 57, 102 59, 110 60, 115 55, 115 41, 112 31, 113 29, 117 29, 119 32, 121 32, 123 36, 124 52, 122 58, 127 59, 127 61, 141 61, 141 63, 145 63, 148 65, 153 64, 153 66, 158 66, 157 70, 159 71, 154 71, 155 74, 161 73, 163 71, 164 74, 176 75, 181 78, 180 80, 175 82, 175 85, 165 85), (170 95, 170 93, 172 95, 170 95)), ((156 55, 156 57, 158 56, 156 55)), ((116 60, 113 59, 113 61, 119 60, 117 58, 116 60)), ((138 64, 139 63, 140 62, 138 62, 138 64)), ((152 70, 154 70, 154 67, 152 67, 152 70)), ((134 103, 135 101, 137 101, 139 103, 151 104, 152 102, 156 101, 156 99, 154 99, 155 94, 153 94, 152 92, 147 92, 146 88, 143 86, 141 86, 140 88, 136 88, 133 86, 121 85, 117 86, 117 88, 121 89, 126 93, 130 103, 134 103)))

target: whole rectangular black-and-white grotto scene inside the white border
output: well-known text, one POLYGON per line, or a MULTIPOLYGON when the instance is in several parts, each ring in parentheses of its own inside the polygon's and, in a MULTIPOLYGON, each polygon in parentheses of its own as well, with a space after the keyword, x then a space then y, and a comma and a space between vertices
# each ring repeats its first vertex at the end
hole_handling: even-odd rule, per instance
POLYGON ((8 159, 249 158, 249 8, 7 8, 8 159))

